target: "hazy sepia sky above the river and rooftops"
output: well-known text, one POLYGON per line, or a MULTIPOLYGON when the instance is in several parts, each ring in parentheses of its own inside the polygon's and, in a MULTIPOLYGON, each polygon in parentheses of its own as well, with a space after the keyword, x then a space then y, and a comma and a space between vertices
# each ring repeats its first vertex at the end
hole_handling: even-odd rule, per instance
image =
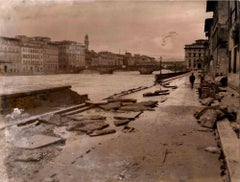
POLYGON ((89 49, 184 59, 204 39, 206 1, 0 0, 0 36, 47 36, 89 49))

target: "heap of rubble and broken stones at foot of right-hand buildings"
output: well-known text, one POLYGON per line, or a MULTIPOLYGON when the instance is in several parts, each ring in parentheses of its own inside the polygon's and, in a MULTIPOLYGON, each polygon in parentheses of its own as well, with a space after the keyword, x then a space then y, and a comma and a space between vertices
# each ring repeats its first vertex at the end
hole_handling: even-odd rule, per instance
MULTIPOLYGON (((222 84, 224 85, 224 84, 222 84)), ((194 114, 198 123, 207 128, 215 128, 216 122, 227 118, 237 120, 238 98, 216 84, 203 81, 199 88, 200 103, 205 106, 194 114), (234 104, 236 103, 236 104, 234 104)))

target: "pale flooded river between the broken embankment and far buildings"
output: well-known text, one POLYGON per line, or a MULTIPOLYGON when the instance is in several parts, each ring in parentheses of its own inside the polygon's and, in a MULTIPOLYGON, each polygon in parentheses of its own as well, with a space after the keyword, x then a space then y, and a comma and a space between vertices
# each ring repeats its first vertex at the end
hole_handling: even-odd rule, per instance
POLYGON ((72 89, 79 94, 88 94, 91 100, 98 100, 130 88, 150 86, 154 83, 154 73, 152 75, 141 75, 139 72, 115 72, 104 75, 81 73, 1 76, 0 81, 0 94, 72 85, 72 89))

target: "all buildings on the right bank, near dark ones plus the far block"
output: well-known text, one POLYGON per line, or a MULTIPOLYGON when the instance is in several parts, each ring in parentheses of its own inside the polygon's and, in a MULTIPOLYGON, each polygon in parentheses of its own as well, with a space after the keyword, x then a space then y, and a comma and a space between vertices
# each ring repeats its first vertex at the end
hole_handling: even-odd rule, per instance
POLYGON ((185 45, 186 64, 190 69, 203 69, 212 78, 225 75, 232 87, 240 88, 240 2, 207 0, 206 12, 213 14, 205 20, 207 40, 185 45))

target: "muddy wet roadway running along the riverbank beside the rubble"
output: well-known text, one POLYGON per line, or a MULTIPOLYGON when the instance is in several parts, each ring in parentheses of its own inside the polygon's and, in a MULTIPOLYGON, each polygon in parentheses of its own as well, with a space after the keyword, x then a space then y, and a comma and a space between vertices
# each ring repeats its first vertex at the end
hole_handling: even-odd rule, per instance
MULTIPOLYGON (((193 118, 201 106, 188 77, 172 81, 167 100, 128 124, 134 131, 89 137, 68 136, 58 156, 31 176, 32 181, 222 181, 215 136, 193 118)), ((150 90, 159 89, 157 85, 150 90)), ((146 91, 127 96, 138 100, 146 91)), ((89 112, 89 111, 88 111, 89 112)), ((91 112, 103 112, 92 110, 91 112)))

